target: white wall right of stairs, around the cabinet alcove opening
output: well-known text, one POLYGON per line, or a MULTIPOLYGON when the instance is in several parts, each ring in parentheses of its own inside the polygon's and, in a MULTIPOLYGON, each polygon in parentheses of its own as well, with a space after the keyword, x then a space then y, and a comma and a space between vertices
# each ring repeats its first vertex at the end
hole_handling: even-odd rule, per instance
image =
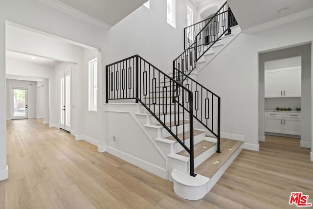
POLYGON ((241 33, 201 70, 199 82, 221 96, 222 132, 244 135, 245 143, 258 147, 258 53, 312 40, 313 18, 251 35, 241 33))

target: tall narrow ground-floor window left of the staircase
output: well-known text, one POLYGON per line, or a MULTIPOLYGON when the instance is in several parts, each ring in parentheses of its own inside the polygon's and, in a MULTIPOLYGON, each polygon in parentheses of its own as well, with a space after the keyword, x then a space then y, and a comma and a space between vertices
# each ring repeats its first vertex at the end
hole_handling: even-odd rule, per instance
POLYGON ((98 103, 98 59, 89 61, 89 111, 97 111, 98 103))

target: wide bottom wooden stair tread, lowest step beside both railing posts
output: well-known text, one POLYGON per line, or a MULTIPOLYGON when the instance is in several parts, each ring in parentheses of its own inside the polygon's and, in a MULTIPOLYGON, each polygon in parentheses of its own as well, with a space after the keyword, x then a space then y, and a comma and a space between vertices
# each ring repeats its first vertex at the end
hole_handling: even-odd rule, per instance
POLYGON ((243 141, 221 138, 221 153, 214 153, 209 159, 195 168, 195 173, 212 178, 242 143, 243 141))

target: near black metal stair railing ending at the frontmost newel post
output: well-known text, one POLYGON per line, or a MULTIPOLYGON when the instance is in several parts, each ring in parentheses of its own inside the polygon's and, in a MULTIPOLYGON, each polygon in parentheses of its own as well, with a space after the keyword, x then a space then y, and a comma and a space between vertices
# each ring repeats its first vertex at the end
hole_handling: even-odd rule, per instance
POLYGON ((134 55, 106 66, 106 103, 120 99, 135 99, 156 118, 189 153, 190 175, 196 176, 193 93, 142 57, 134 55), (185 134, 187 131, 189 135, 185 134))

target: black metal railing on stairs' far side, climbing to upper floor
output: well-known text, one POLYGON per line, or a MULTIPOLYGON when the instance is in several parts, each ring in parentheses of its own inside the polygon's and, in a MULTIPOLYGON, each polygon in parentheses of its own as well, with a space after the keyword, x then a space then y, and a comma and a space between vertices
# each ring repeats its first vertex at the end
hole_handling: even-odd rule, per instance
POLYGON ((184 29, 185 50, 173 61, 173 79, 193 93, 193 115, 201 125, 217 137, 217 152, 220 152, 221 98, 191 79, 189 75, 197 68, 197 61, 201 56, 224 35, 230 34, 230 27, 236 24, 238 23, 225 2, 213 17, 184 29))

